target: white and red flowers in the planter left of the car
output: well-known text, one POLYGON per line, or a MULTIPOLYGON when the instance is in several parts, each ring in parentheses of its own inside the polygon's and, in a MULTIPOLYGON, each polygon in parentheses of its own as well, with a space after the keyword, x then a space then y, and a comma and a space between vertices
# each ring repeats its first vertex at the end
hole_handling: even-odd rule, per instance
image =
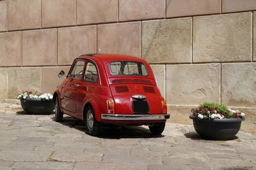
POLYGON ((19 100, 26 100, 26 99, 41 99, 41 100, 52 100, 52 95, 50 93, 32 93, 32 91, 23 91, 17 97, 19 100))

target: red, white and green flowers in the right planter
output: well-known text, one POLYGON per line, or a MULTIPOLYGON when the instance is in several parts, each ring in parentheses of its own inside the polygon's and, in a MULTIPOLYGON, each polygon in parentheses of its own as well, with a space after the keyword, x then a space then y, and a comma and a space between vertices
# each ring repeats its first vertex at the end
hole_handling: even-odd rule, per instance
POLYGON ((227 108, 225 105, 207 103, 198 105, 191 109, 193 116, 201 120, 225 119, 225 118, 244 118, 244 112, 235 111, 227 108))

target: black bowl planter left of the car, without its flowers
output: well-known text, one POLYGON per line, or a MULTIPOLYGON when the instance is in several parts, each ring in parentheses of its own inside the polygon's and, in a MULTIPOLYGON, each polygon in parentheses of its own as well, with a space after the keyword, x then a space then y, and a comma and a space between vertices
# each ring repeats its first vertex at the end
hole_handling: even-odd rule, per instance
POLYGON ((29 114, 51 114, 54 109, 52 100, 26 99, 20 100, 22 109, 29 114))

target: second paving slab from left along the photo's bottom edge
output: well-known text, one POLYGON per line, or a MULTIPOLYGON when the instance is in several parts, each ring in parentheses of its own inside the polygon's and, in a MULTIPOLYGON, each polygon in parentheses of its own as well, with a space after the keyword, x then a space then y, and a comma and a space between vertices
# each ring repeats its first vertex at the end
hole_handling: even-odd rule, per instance
POLYGON ((74 163, 72 162, 16 162, 13 165, 15 169, 70 169, 72 170, 74 163))

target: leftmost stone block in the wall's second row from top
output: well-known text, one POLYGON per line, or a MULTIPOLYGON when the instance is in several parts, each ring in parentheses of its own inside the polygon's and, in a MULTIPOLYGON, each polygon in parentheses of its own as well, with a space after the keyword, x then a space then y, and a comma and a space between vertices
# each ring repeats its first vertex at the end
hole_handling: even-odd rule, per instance
POLYGON ((21 32, 0 33, 0 66, 21 65, 21 32))

